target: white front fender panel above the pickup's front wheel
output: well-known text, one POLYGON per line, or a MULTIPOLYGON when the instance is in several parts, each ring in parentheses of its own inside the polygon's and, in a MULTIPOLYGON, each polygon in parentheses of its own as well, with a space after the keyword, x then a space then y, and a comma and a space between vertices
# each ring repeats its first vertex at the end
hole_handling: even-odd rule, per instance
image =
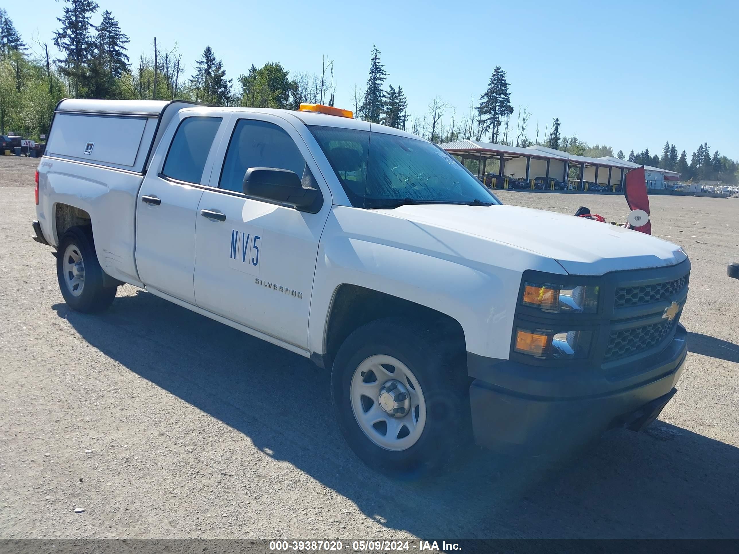
POLYGON ((521 275, 532 268, 563 273, 556 261, 509 244, 335 206, 319 245, 308 347, 326 352, 333 295, 354 284, 449 315, 462 326, 468 352, 508 359, 521 275))

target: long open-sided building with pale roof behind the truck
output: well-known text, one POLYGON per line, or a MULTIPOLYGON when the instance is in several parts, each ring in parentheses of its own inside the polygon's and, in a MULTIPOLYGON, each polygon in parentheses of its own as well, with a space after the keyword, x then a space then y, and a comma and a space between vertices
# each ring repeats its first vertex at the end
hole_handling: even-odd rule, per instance
POLYGON ((497 160, 497 175, 525 179, 527 182, 536 177, 555 177, 568 182, 570 168, 578 168, 577 188, 584 190, 584 182, 595 182, 601 185, 623 186, 626 171, 630 165, 621 160, 609 158, 591 158, 568 154, 554 148, 533 145, 526 148, 505 146, 503 144, 480 143, 473 140, 459 140, 454 143, 439 145, 457 157, 462 163, 468 160, 477 161, 477 177, 486 173, 488 160, 497 160))

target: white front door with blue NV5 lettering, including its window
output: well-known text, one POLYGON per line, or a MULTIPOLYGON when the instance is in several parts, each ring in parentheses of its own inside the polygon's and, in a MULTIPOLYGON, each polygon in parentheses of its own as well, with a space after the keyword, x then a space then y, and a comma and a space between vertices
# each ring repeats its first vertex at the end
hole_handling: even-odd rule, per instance
POLYGON ((319 239, 331 196, 304 141, 281 117, 238 114, 211 171, 195 228, 195 297, 205 310, 306 348, 319 239), (321 189, 319 213, 242 193, 248 168, 295 171, 321 189), (316 176, 316 177, 314 177, 316 176))

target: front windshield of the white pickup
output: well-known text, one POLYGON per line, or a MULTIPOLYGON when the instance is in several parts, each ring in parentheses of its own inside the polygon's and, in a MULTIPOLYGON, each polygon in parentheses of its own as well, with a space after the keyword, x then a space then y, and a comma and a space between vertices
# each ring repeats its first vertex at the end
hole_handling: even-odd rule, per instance
POLYGON ((375 131, 308 126, 357 208, 500 201, 441 148, 375 131))

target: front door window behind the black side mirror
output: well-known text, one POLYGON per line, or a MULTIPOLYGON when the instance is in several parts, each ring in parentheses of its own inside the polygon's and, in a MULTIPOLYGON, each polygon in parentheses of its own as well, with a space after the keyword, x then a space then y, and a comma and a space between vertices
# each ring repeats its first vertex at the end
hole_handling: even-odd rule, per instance
POLYGON ((267 121, 242 119, 231 135, 218 187, 242 192, 249 168, 289 169, 302 178, 305 160, 284 129, 267 121))

